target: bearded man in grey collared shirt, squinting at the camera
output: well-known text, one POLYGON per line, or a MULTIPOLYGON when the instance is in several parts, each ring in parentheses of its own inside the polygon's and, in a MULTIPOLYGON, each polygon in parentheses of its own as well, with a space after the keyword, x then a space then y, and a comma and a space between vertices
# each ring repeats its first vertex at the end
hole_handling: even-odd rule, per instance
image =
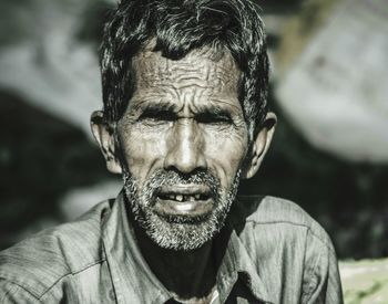
POLYGON ((236 198, 276 116, 248 0, 123 0, 92 130, 115 200, 0 255, 1 303, 341 303, 325 231, 292 202, 236 198))

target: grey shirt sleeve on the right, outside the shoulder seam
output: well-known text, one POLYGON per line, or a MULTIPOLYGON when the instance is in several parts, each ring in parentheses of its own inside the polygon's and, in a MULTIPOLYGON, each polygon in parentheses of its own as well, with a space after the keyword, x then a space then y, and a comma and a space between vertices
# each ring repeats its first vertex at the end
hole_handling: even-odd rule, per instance
POLYGON ((306 251, 302 303, 343 304, 337 256, 330 239, 310 235, 306 251))

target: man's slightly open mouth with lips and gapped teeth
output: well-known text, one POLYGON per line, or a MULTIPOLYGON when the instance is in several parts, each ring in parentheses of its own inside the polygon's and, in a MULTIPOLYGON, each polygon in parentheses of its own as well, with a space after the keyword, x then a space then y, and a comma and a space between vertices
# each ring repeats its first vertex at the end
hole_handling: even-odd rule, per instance
POLYGON ((156 192, 155 212, 162 217, 204 217, 212 211, 213 193, 198 185, 161 187, 156 192))

